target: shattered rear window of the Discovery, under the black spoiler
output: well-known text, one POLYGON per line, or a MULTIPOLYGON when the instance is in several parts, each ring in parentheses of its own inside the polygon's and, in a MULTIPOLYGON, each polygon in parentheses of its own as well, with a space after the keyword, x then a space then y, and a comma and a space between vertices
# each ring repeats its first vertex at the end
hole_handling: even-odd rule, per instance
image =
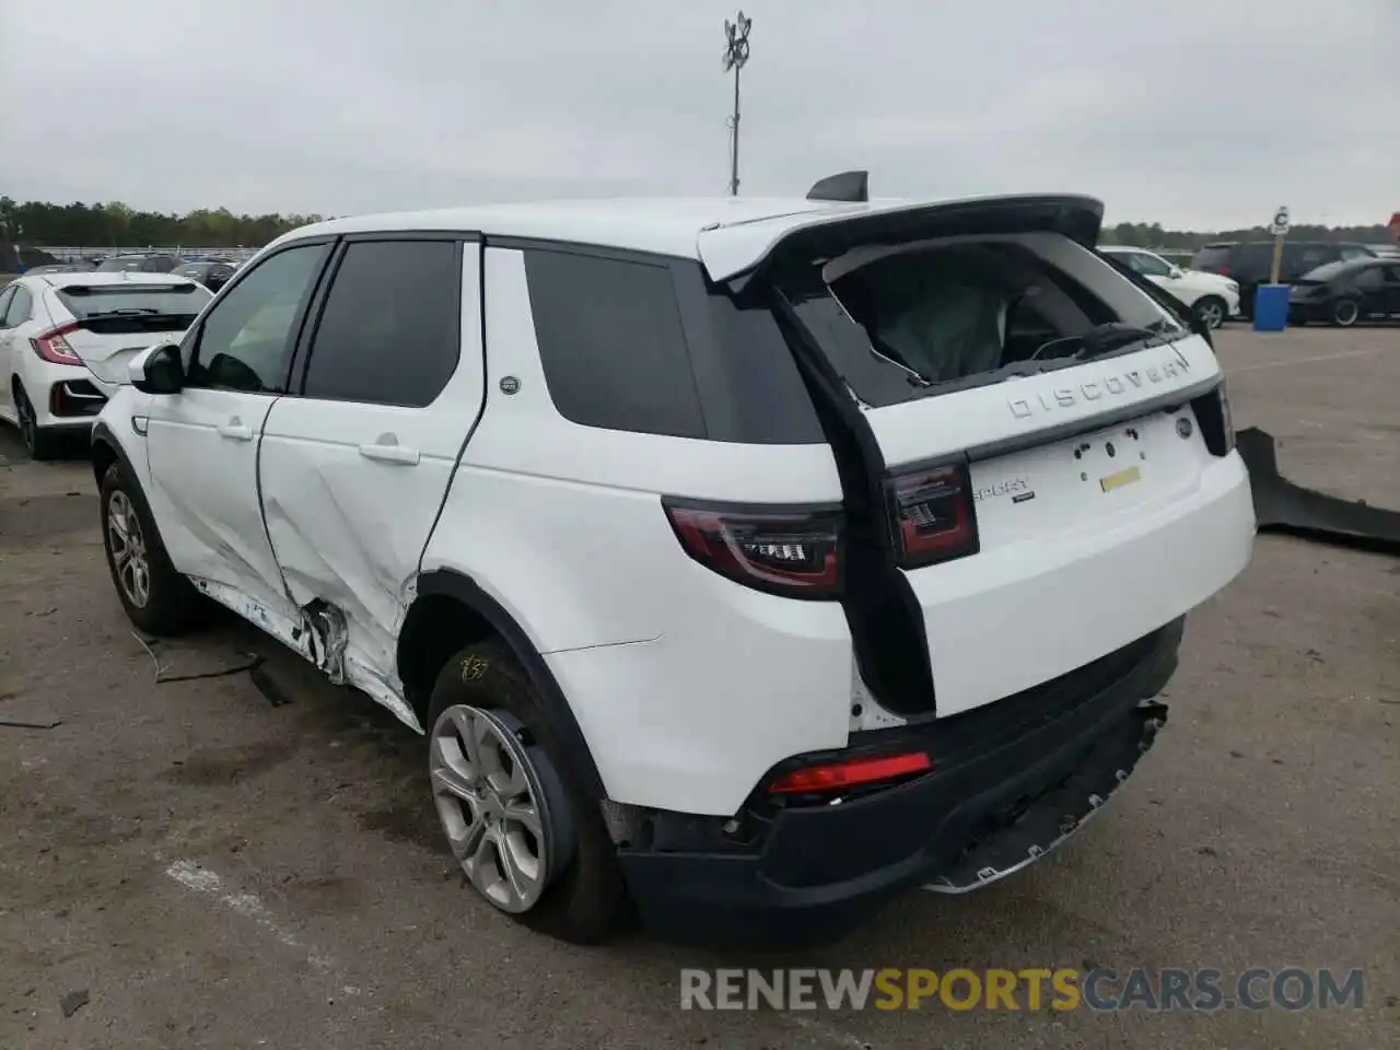
POLYGON ((857 252, 790 260, 771 280, 851 393, 871 407, 1190 335, 1067 238, 1028 242, 1040 251, 1005 239, 857 249, 864 260, 857 252), (1042 252, 1072 266, 1074 276, 1042 252))

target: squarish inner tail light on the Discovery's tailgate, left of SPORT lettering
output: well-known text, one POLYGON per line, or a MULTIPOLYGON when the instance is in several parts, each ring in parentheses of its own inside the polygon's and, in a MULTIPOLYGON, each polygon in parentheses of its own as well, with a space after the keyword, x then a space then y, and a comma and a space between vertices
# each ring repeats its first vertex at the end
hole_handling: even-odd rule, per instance
POLYGON ((977 553, 977 511, 965 463, 895 475, 886 493, 900 567, 977 553))

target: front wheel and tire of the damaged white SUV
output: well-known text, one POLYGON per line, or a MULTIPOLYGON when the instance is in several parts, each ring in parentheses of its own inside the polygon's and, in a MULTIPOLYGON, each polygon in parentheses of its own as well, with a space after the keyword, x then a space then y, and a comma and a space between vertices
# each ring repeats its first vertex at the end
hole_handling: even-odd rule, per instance
POLYGON ((126 616, 147 634, 174 636, 206 619, 209 599, 171 564, 146 496, 122 463, 112 463, 98 489, 102 546, 126 616))

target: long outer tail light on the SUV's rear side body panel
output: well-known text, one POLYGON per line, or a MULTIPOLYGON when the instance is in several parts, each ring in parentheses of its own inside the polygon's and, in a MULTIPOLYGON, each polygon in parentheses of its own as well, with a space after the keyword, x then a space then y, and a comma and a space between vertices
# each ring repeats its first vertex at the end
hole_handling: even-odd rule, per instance
POLYGON ((720 575, 785 598, 836 598, 841 589, 837 510, 725 507, 664 500, 680 546, 720 575))

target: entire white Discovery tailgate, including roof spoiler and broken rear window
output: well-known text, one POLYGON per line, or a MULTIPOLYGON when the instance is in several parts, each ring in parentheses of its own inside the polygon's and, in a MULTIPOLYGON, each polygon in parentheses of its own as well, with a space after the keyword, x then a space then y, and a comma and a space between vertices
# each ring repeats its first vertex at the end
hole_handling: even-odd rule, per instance
MULTIPOLYGON (((818 356, 818 370, 823 360, 833 370, 830 389, 851 392, 858 405, 851 426, 868 430, 878 447, 878 462, 868 451, 846 455, 858 455, 865 475, 885 487, 889 508, 875 512, 889 519, 874 532, 892 536, 899 578, 921 615, 932 675, 932 696, 903 692, 900 714, 935 704, 938 715, 956 714, 1067 673, 1182 616, 1247 563, 1249 484, 1231 454, 1214 351, 1095 256, 1100 214, 1085 199, 1021 197, 788 220, 788 232, 757 238, 743 231, 742 242, 725 242, 725 230, 703 235, 710 238, 701 239, 707 267, 715 279, 741 274, 734 284, 739 294, 745 259, 749 269, 773 274, 791 319, 806 329, 804 353, 818 356), (1116 316, 1128 337, 1120 349, 1084 360, 1039 358, 1037 350, 970 365, 962 375, 910 371, 906 365, 939 364, 935 351, 944 344, 925 343, 927 360, 918 360, 907 342, 892 342, 900 335, 892 325, 881 329, 890 337, 882 335, 876 350, 867 333, 889 319, 881 301, 868 314, 857 298, 843 300, 839 311, 827 301, 829 286, 855 272, 848 265, 878 274, 874 267, 890 259, 896 270, 903 265, 902 245, 939 252, 953 244, 959 252, 981 252, 969 259, 1011 267, 1005 273, 1028 265, 1026 252, 1037 256, 1035 265, 1049 267, 1043 273, 1057 274, 1032 290, 1037 302, 1046 309, 1070 304, 1093 330, 1107 322, 1091 309, 1116 316), (1075 298, 1074 288, 1086 295, 1075 298), (861 336, 853 342, 857 328, 861 336), (937 382, 921 385, 918 374, 937 382), (949 536, 955 542, 938 550, 949 536), (917 557, 911 542, 921 545, 917 557)), ((944 290, 963 280, 956 266, 938 273, 952 276, 920 286, 932 288, 932 298, 913 300, 914 308, 938 307, 944 290)), ((867 295, 879 291, 881 280, 869 277, 853 294, 860 287, 867 295)), ((1019 287, 1008 293, 1009 302, 1025 298, 1019 287)), ((993 339, 1008 351, 1009 312, 1000 318, 993 339)), ((986 330, 976 329, 979 339, 986 330)), ((839 410, 851 417, 848 407, 839 410)), ((889 603, 868 594, 860 601, 889 616, 889 603)), ((848 605, 858 654, 861 615, 848 605)), ((890 637, 882 627, 871 631, 890 637)), ((876 651, 879 638, 867 638, 867 652, 876 651)), ((881 658, 890 657, 886 645, 881 658)), ((862 672, 869 669, 862 662, 862 672)))

